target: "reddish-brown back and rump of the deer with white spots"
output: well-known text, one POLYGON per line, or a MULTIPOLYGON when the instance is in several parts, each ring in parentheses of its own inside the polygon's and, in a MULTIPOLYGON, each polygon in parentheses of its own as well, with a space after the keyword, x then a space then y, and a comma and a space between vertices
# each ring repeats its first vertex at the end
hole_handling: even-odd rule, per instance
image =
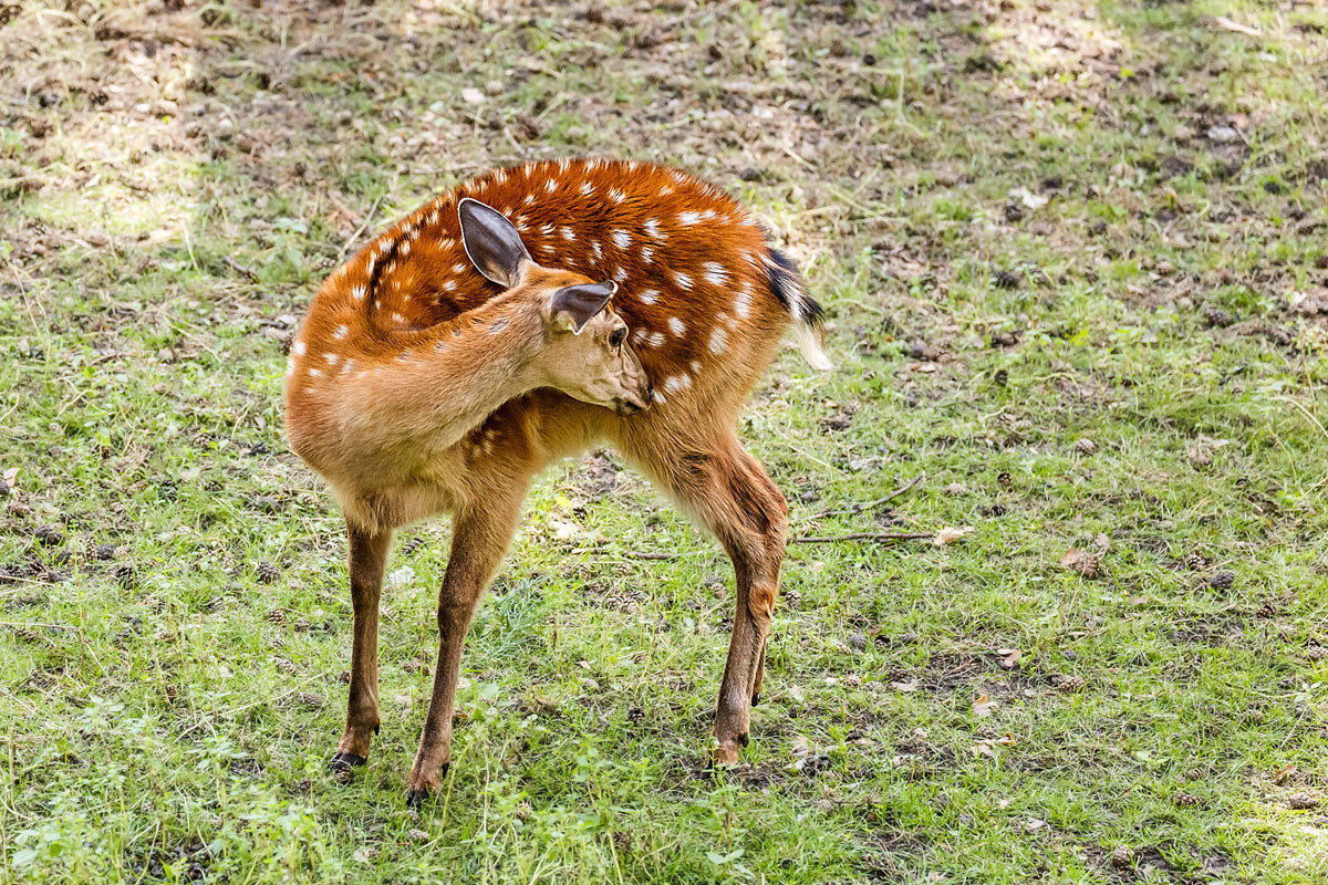
POLYGON ((389 348, 394 333, 501 292, 466 256, 463 196, 506 215, 537 263, 618 284, 614 308, 660 402, 745 395, 789 324, 769 287, 769 247, 745 208, 679 170, 596 159, 495 170, 438 196, 333 275, 313 313, 351 310, 361 336, 389 348))

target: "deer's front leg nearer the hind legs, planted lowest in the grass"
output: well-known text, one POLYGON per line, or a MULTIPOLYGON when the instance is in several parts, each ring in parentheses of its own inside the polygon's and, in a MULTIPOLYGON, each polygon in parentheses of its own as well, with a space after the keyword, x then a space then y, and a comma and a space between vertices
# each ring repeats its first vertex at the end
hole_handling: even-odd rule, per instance
POLYGON ((406 789, 406 803, 412 807, 438 789, 452 760, 452 714, 461 646, 479 597, 507 549, 519 511, 518 495, 514 500, 485 502, 483 507, 459 511, 453 523, 452 556, 438 590, 438 666, 433 697, 406 789))

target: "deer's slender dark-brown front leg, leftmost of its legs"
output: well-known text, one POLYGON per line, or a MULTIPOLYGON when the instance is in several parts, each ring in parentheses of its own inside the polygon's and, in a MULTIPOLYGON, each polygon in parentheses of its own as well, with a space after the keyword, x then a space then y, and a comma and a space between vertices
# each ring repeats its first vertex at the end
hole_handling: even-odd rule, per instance
POLYGON ((348 523, 351 537, 351 604, 355 637, 351 650, 351 697, 345 731, 328 767, 349 774, 369 758, 369 743, 378 731, 378 598, 388 563, 392 529, 371 532, 348 523))

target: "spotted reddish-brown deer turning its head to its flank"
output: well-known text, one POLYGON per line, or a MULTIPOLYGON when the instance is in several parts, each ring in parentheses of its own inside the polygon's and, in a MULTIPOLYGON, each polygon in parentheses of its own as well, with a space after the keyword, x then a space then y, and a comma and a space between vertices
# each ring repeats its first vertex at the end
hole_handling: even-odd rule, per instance
POLYGON ((823 310, 773 235, 677 169, 558 159, 495 169, 438 195, 335 271, 293 338, 292 450, 345 517, 353 610, 349 776, 380 727, 378 602, 393 532, 450 513, 438 657, 406 801, 452 758, 462 644, 547 466, 611 444, 708 528, 736 612, 710 760, 740 762, 765 677, 788 504, 737 417, 795 333, 830 369, 823 310))

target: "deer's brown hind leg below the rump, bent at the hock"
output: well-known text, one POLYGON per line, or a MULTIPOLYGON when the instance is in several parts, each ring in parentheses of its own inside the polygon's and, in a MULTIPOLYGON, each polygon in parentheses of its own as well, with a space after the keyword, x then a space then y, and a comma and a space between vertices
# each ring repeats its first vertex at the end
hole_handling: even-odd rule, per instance
MULTIPOLYGON (((671 448, 676 439, 671 437, 671 448)), ((737 610, 714 713, 714 762, 736 763, 748 742, 753 697, 761 690, 789 507, 760 462, 732 434, 680 454, 629 444, 624 452, 709 527, 733 561, 737 610)))

